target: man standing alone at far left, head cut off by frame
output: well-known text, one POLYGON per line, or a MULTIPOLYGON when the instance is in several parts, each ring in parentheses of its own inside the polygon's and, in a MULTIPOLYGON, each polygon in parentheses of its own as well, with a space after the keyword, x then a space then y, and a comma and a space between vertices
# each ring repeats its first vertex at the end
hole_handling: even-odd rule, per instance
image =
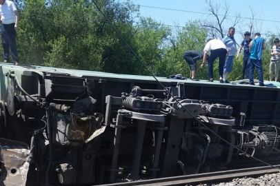
POLYGON ((14 65, 19 65, 16 42, 17 30, 19 28, 19 12, 17 12, 13 1, 0 0, 0 17, 4 62, 9 62, 11 52, 14 65))

